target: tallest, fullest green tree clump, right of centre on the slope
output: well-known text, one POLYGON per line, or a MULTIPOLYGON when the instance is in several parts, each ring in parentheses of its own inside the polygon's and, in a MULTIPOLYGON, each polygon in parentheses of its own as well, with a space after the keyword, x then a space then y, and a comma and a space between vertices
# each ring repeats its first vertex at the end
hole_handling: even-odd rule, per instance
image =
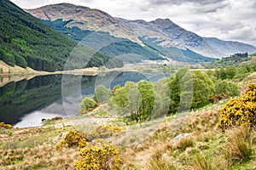
POLYGON ((179 69, 169 82, 171 105, 170 112, 195 108, 214 94, 214 84, 207 74, 201 71, 179 69))

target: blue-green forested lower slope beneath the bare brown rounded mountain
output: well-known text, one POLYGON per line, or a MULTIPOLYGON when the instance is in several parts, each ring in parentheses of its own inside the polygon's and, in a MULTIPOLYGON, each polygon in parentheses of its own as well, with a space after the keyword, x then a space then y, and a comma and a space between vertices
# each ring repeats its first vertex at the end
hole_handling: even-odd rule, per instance
POLYGON ((109 35, 108 32, 81 30, 78 27, 67 27, 67 24, 73 20, 64 21, 58 19, 54 21, 42 21, 56 31, 60 31, 68 37, 71 37, 73 40, 80 42, 85 39, 86 44, 91 48, 97 47, 99 44, 107 44, 103 48, 100 48, 99 51, 109 56, 118 57, 125 62, 135 63, 140 62, 142 59, 163 59, 160 54, 157 53, 157 51, 142 47, 138 43, 131 42, 125 38, 113 37, 109 35), (129 55, 125 57, 125 54, 129 55), (137 57, 132 58, 132 55, 134 54, 137 57))

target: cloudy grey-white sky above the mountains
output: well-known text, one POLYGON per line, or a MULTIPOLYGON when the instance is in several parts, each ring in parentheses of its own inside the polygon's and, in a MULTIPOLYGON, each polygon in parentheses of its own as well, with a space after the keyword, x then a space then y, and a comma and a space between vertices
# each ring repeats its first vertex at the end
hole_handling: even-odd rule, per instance
POLYGON ((11 0, 20 8, 73 3, 130 20, 169 18, 202 37, 256 46, 256 0, 11 0))

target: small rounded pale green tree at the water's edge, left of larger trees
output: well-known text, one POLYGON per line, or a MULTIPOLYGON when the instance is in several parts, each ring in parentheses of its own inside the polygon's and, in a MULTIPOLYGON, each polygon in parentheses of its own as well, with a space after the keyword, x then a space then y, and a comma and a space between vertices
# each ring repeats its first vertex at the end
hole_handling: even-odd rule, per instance
POLYGON ((108 99, 110 98, 111 91, 110 89, 106 88, 103 85, 97 86, 94 91, 94 97, 93 99, 98 102, 108 102, 108 99))

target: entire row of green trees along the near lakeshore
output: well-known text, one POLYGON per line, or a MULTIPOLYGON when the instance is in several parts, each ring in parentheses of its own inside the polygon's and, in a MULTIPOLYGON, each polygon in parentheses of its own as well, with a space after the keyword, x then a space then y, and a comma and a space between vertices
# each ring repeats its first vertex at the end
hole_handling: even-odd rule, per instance
POLYGON ((230 80, 219 79, 217 72, 190 71, 183 67, 172 77, 159 82, 126 82, 125 86, 116 85, 113 89, 101 85, 96 87, 94 98, 85 98, 81 107, 89 109, 96 102, 108 102, 120 116, 143 122, 156 116, 198 109, 218 99, 238 96, 238 85, 230 80), (87 105, 89 101, 92 105, 87 105))

